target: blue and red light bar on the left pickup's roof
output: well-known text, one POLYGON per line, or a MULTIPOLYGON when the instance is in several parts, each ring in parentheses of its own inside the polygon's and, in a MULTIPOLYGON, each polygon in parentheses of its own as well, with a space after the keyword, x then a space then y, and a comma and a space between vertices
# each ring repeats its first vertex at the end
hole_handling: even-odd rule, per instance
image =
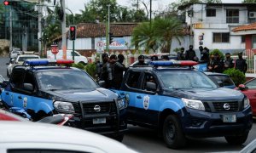
POLYGON ((25 65, 69 65, 74 61, 70 59, 26 59, 25 65))

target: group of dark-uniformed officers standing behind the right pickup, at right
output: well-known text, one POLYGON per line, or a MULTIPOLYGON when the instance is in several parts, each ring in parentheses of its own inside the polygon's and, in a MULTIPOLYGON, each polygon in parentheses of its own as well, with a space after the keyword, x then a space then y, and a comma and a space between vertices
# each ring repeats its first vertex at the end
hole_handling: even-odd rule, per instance
POLYGON ((238 54, 238 59, 234 61, 230 57, 230 53, 226 53, 224 59, 220 57, 220 54, 214 53, 210 56, 209 49, 207 47, 203 48, 199 47, 201 52, 201 59, 199 60, 196 57, 195 50, 193 49, 193 45, 189 46, 189 49, 184 53, 184 48, 180 49, 180 52, 177 53, 177 60, 194 60, 200 63, 207 63, 207 71, 222 73, 223 71, 235 68, 243 72, 244 74, 247 71, 247 61, 242 58, 242 52, 238 54))

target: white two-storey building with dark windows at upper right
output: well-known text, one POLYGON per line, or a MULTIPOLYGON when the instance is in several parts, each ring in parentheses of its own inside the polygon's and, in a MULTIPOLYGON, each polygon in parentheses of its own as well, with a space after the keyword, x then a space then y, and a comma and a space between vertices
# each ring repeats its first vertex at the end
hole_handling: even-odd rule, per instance
POLYGON ((223 53, 245 50, 245 37, 232 30, 256 21, 256 4, 194 3, 186 8, 186 23, 190 26, 191 44, 223 53))

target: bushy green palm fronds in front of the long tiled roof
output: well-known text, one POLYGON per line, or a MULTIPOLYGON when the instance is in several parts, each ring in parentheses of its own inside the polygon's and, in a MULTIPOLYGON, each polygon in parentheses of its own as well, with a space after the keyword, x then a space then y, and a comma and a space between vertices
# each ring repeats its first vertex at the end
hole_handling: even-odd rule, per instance
POLYGON ((144 48, 154 52, 159 48, 163 53, 171 50, 172 38, 183 35, 182 25, 175 18, 158 18, 149 22, 143 22, 132 31, 131 44, 138 48, 144 48))

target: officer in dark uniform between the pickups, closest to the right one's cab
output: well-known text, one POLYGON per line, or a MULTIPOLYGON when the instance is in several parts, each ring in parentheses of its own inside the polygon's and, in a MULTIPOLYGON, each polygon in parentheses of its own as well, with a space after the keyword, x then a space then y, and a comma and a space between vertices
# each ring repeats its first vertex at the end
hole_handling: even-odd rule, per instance
POLYGON ((113 65, 113 71, 114 71, 114 88, 120 88, 121 87, 121 83, 123 81, 123 76, 124 76, 124 71, 126 71, 126 67, 123 64, 124 62, 124 55, 123 54, 119 54, 118 55, 118 61, 114 63, 113 65))

